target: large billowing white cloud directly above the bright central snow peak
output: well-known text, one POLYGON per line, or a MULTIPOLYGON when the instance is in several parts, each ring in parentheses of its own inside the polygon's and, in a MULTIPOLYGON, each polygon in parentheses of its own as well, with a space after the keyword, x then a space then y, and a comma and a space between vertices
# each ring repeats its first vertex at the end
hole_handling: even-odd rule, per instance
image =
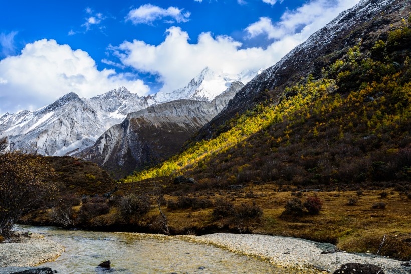
POLYGON ((267 50, 241 49, 242 44, 231 37, 214 38, 208 32, 200 34, 196 44, 188 41, 187 32, 171 27, 160 45, 134 40, 126 41, 111 50, 123 64, 142 72, 157 74, 164 83, 161 90, 172 91, 186 85, 206 66, 229 74, 237 74, 247 69, 267 68, 298 43, 293 39, 285 39, 267 50))

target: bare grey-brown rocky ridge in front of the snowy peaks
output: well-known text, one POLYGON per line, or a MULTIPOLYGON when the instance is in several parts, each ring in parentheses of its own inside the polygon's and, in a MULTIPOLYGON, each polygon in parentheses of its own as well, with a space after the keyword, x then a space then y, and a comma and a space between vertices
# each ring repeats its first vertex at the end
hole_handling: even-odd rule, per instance
POLYGON ((177 100, 129 113, 121 124, 112 126, 92 147, 76 156, 106 170, 119 171, 116 177, 156 164, 177 153, 242 87, 241 82, 234 82, 210 103, 177 100))

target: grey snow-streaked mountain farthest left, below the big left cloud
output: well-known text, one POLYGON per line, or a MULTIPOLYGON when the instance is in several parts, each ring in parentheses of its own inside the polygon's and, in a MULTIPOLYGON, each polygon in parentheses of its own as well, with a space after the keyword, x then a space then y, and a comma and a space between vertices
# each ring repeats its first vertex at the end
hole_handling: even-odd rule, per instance
POLYGON ((36 111, 4 115, 9 128, 1 132, 11 150, 42 155, 64 155, 94 143, 104 124, 99 115, 74 92, 36 111))

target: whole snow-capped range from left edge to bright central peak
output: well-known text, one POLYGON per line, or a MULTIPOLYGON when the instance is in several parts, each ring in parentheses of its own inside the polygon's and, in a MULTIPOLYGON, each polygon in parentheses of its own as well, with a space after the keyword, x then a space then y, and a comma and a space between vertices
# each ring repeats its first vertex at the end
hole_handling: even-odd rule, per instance
MULTIPOLYGON (((244 73, 247 77, 253 74, 256 73, 244 73)), ((204 69, 186 88, 176 90, 168 97, 158 94, 139 97, 125 87, 90 99, 71 92, 35 111, 4 114, 0 117, 0 138, 9 140, 11 150, 46 156, 72 155, 92 146, 107 129, 121 123, 128 113, 177 99, 211 102, 228 89, 234 82, 232 80, 227 75, 223 77, 223 74, 204 69)), ((228 103, 227 96, 222 98, 219 107, 228 103)))

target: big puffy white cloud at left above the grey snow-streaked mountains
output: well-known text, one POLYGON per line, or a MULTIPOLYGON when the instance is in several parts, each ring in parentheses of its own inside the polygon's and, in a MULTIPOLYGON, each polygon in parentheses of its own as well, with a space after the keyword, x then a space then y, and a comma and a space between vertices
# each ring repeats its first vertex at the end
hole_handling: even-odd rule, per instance
POLYGON ((0 84, 2 111, 9 112, 50 104, 71 91, 86 98, 119 86, 139 95, 149 92, 141 80, 129 80, 111 69, 99 71, 87 52, 46 39, 0 60, 0 84))

